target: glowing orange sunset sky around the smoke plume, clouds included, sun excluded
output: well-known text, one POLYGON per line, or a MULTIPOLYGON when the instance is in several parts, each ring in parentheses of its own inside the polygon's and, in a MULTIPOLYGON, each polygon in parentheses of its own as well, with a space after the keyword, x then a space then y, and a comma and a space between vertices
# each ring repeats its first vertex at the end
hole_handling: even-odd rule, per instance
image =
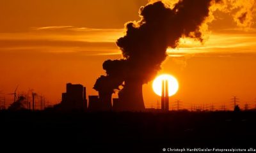
MULTIPOLYGON (((140 20, 138 10, 147 0, 2 0, 0 1, 0 91, 33 89, 60 103, 66 83, 83 84, 89 95, 104 75, 102 62, 120 59, 115 41, 124 36, 124 24, 140 20)), ((179 81, 170 98, 182 108, 221 105, 231 108, 232 96, 256 105, 256 18, 250 27, 239 26, 230 13, 216 11, 203 43, 183 39, 168 49, 162 73, 179 81)), ((10 105, 13 97, 6 96, 10 105)), ((143 86, 145 106, 157 106, 152 82, 143 86)), ((160 103, 159 103, 160 104, 160 103)), ((159 105, 160 106, 160 105, 159 105)))

